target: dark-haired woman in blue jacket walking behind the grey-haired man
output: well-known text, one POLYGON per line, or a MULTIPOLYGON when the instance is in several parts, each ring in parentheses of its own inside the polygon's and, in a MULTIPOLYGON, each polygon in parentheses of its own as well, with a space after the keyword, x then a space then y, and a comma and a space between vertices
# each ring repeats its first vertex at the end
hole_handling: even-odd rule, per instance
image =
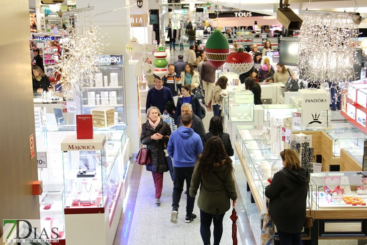
POLYGON ((181 96, 178 97, 176 111, 174 113, 174 121, 176 125, 179 124, 179 122, 177 122, 177 118, 179 117, 179 115, 181 115, 181 106, 184 103, 190 103, 191 106, 193 107, 194 114, 200 117, 200 119, 203 119, 203 114, 201 112, 201 105, 198 97, 191 94, 190 85, 184 85, 181 87, 181 96))

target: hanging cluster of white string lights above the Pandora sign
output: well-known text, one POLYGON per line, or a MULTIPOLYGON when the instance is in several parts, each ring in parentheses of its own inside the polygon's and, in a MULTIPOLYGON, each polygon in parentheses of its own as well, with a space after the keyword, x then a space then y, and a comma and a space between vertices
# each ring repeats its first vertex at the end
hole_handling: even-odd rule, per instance
POLYGON ((329 81, 335 86, 340 81, 355 79, 353 64, 358 61, 352 40, 359 31, 353 13, 299 13, 303 19, 298 50, 300 76, 311 84, 329 81))

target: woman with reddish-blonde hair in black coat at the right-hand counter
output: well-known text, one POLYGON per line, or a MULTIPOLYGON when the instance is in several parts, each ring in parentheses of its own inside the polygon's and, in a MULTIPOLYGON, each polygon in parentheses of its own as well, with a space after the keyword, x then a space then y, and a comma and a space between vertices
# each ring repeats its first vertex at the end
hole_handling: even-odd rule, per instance
POLYGON ((306 198, 310 174, 301 167, 293 149, 281 152, 284 168, 274 174, 265 188, 270 199, 269 213, 277 226, 281 245, 301 245, 301 231, 306 219, 306 198))

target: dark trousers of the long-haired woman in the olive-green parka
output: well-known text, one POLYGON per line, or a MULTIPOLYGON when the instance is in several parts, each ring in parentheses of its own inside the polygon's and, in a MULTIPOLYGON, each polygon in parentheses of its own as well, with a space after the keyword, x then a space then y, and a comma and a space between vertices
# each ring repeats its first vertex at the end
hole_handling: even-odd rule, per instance
POLYGON ((214 245, 220 243, 223 234, 223 217, 224 214, 215 216, 200 210, 200 234, 204 245, 210 245, 210 226, 212 225, 212 220, 214 225, 214 245))

